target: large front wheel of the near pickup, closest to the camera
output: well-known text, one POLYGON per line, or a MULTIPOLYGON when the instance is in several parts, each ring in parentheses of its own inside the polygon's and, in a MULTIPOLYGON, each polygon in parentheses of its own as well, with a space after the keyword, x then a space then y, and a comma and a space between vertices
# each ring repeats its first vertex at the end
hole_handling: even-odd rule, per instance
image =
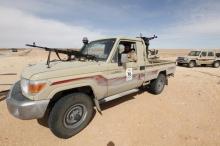
POLYGON ((59 138, 70 138, 83 130, 93 117, 92 99, 84 93, 62 97, 52 108, 48 125, 59 138))

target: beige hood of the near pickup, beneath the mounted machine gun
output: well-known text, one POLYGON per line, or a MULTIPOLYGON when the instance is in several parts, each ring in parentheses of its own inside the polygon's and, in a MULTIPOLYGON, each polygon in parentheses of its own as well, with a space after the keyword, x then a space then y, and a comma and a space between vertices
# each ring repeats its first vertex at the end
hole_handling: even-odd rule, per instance
POLYGON ((50 68, 46 63, 39 63, 26 67, 21 76, 31 80, 44 80, 56 77, 72 76, 83 73, 97 72, 101 70, 104 62, 95 61, 72 61, 72 62, 51 62, 50 68))

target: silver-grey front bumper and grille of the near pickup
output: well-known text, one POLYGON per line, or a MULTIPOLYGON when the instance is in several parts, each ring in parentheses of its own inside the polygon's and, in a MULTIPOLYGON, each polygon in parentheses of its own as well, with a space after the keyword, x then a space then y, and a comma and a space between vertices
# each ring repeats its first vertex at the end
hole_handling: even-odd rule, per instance
POLYGON ((20 81, 16 82, 6 99, 8 111, 22 120, 39 119, 44 116, 49 100, 30 100, 23 96, 20 81))

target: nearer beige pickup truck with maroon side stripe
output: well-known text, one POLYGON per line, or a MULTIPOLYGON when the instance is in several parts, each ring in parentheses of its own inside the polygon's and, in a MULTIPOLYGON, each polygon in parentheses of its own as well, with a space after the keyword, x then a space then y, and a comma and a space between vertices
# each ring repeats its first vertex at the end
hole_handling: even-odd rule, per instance
POLYGON ((69 138, 88 125, 94 107, 101 112, 102 102, 137 92, 143 86, 160 94, 176 65, 166 60, 149 61, 150 39, 96 40, 85 44, 77 55, 66 53, 67 60, 50 62, 48 57, 47 64, 26 67, 6 99, 9 112, 19 119, 44 119, 56 136, 69 138), (131 52, 125 52, 125 47, 132 50, 136 60, 129 59, 131 52))

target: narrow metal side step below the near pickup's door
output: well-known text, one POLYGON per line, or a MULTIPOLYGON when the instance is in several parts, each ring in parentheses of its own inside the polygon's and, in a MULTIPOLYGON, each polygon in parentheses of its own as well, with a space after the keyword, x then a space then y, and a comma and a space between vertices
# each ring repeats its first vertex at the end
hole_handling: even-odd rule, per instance
POLYGON ((115 95, 106 97, 106 98, 104 98, 104 99, 101 99, 101 100, 99 101, 99 103, 101 104, 101 103, 104 103, 104 102, 108 102, 108 101, 111 101, 111 100, 120 98, 120 97, 122 97, 122 96, 129 95, 129 94, 132 94, 132 93, 135 93, 135 92, 138 92, 138 91, 139 91, 139 89, 128 90, 128 91, 125 91, 125 92, 122 92, 122 93, 119 93, 119 94, 115 94, 115 95))

